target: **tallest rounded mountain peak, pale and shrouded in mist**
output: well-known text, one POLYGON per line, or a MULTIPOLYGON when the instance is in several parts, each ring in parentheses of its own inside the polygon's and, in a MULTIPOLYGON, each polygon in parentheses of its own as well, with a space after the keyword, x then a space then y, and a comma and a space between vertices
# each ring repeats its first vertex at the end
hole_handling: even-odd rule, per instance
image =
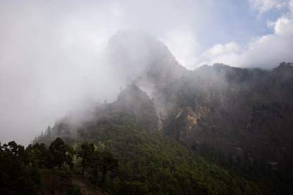
POLYGON ((163 42, 139 30, 118 30, 106 57, 117 78, 127 83, 170 83, 187 73, 163 42))

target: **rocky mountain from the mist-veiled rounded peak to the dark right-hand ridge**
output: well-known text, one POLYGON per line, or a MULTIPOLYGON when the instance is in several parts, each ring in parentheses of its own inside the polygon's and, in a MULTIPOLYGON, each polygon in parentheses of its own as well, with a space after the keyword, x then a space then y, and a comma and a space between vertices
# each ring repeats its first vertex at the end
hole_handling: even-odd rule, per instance
POLYGON ((292 162, 292 64, 188 71, 162 42, 132 30, 117 32, 107 51, 115 67, 139 66, 132 81, 153 98, 159 130, 189 146, 219 146, 234 158, 280 167, 292 162))

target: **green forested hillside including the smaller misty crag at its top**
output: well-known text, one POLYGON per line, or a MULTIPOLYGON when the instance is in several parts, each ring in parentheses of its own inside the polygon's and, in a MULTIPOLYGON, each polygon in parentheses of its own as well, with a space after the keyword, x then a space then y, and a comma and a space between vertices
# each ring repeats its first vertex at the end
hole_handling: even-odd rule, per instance
POLYGON ((60 136, 73 146, 90 141, 113 152, 119 168, 106 187, 110 194, 286 194, 291 190, 286 178, 270 167, 251 164, 247 157, 225 158, 206 142, 192 149, 165 131, 150 129, 158 118, 153 103, 136 85, 122 90, 116 102, 100 110, 95 120, 79 127, 56 124, 37 141, 50 143, 60 136))

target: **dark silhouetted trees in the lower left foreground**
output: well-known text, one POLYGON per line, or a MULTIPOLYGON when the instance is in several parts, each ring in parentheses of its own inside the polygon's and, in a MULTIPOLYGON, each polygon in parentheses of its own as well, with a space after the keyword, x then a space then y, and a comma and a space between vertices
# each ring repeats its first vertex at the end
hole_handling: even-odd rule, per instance
MULTIPOLYGON (((95 150, 93 143, 84 142, 75 149, 62 138, 56 138, 48 148, 44 143, 24 148, 14 141, 0 145, 0 194, 38 194, 44 183, 39 168, 52 170, 52 194, 57 186, 63 192, 64 182, 70 183, 74 172, 84 173, 86 167, 93 183, 103 191, 108 172, 117 169, 117 159, 107 150, 95 150)), ((70 186, 67 194, 81 193, 78 187, 70 186)))

